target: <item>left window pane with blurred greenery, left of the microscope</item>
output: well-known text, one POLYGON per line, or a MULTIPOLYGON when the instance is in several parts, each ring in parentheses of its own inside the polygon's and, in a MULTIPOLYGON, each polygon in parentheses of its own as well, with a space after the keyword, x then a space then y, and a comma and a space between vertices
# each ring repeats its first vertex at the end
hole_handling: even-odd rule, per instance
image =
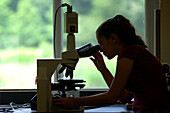
POLYGON ((36 59, 52 58, 52 1, 0 1, 0 89, 35 88, 36 59))

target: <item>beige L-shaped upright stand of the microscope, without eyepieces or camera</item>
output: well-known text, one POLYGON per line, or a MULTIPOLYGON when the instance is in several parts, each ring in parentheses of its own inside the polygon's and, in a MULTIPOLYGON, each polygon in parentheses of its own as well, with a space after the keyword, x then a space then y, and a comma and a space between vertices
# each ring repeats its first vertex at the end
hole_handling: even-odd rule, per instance
MULTIPOLYGON (((61 63, 74 62, 64 59, 37 59, 37 111, 51 112, 53 109, 51 94, 51 76, 61 63)), ((57 108, 55 108, 57 110, 57 108)))

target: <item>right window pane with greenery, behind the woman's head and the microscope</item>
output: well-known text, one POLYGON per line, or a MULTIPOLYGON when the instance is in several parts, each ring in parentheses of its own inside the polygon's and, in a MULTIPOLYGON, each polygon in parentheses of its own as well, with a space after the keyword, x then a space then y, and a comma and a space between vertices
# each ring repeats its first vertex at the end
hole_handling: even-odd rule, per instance
MULTIPOLYGON (((79 15, 79 32, 75 33, 76 47, 87 43, 97 44, 95 31, 106 19, 122 14, 129 18, 137 32, 145 36, 145 0, 63 0, 63 3, 72 5, 73 11, 79 15)), ((63 8, 63 11, 65 8, 63 8)), ((63 37, 63 49, 66 50, 66 35, 63 37)), ((144 38, 145 40, 145 38, 144 38)), ((107 60, 107 67, 115 74, 116 60, 107 60)), ((102 75, 97 71, 89 58, 79 59, 74 71, 74 78, 83 78, 86 87, 107 87, 102 75)))

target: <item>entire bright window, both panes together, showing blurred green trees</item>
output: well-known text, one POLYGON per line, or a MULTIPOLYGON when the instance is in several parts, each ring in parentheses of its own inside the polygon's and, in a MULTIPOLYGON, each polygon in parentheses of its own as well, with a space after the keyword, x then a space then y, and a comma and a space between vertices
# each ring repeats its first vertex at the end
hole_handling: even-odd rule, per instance
MULTIPOLYGON (((65 2, 79 14, 76 47, 89 42, 97 44, 97 27, 116 14, 129 18, 138 33, 145 35, 145 0, 63 0, 65 2)), ((36 59, 53 57, 52 0, 1 0, 0 10, 0 89, 36 88, 36 59)), ((63 51, 65 44, 66 34, 63 51)), ((105 61, 114 75, 116 58, 111 61, 105 58, 105 61)), ((83 78, 86 87, 106 87, 89 58, 79 60, 74 78, 83 78)))

